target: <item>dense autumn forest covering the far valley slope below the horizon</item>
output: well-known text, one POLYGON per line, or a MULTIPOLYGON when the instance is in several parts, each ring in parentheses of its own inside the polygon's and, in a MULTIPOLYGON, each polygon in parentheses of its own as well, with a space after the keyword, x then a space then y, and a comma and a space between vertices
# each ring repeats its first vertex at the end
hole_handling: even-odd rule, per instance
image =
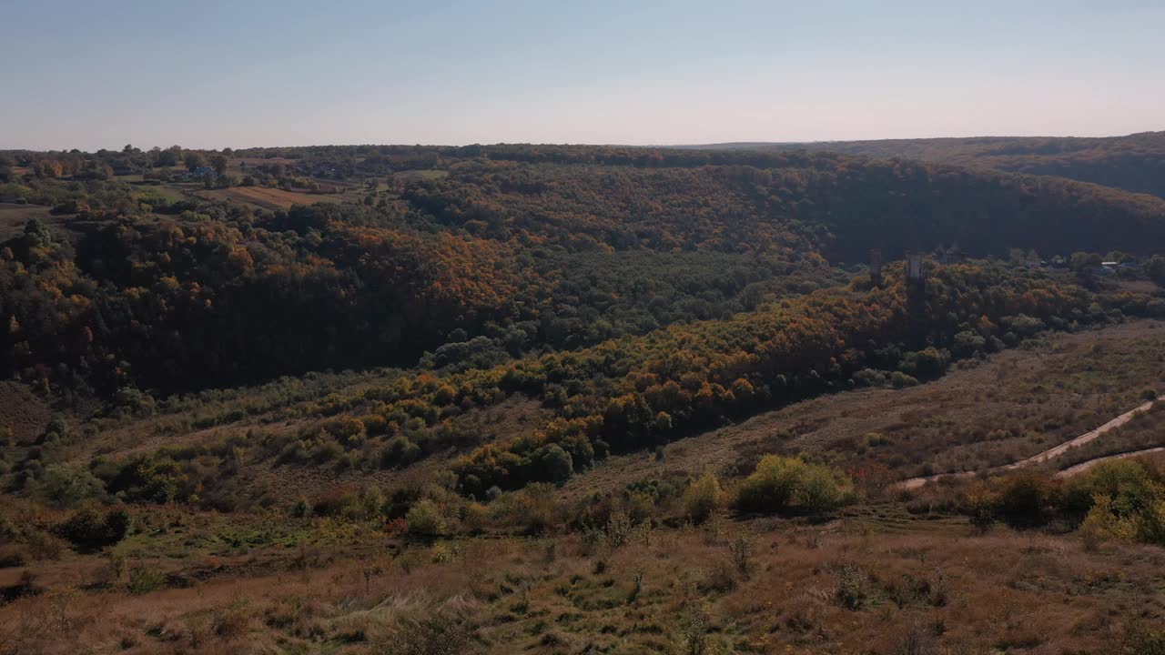
POLYGON ((496 364, 834 287, 849 276, 838 267, 873 247, 891 258, 952 241, 975 256, 1165 247, 1165 200, 1149 196, 828 153, 3 157, 5 211, 48 211, 0 244, 0 374, 64 394, 496 364), (303 204, 246 202, 268 188, 303 204), (205 195, 216 192, 238 196, 205 195))

